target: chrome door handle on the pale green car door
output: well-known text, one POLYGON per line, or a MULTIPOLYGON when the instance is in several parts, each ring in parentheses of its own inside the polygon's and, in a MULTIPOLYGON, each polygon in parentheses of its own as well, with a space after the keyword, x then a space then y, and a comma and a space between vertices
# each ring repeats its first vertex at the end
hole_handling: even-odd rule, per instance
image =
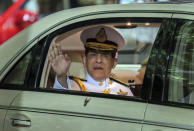
POLYGON ((31 120, 12 119, 12 126, 15 127, 30 127, 31 120))

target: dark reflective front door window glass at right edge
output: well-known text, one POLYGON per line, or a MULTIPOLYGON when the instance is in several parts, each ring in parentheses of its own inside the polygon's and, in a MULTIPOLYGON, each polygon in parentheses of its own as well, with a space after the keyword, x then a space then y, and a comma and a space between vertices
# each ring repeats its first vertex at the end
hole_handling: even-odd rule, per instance
POLYGON ((194 104, 194 22, 179 23, 168 68, 168 100, 194 104))

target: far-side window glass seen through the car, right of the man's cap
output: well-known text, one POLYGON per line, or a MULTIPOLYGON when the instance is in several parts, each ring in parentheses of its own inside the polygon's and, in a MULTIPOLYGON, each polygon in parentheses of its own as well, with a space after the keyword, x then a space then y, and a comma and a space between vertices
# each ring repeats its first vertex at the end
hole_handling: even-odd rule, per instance
POLYGON ((160 24, 142 22, 136 26, 131 29, 118 29, 126 40, 125 47, 118 55, 119 64, 139 64, 150 54, 160 24))

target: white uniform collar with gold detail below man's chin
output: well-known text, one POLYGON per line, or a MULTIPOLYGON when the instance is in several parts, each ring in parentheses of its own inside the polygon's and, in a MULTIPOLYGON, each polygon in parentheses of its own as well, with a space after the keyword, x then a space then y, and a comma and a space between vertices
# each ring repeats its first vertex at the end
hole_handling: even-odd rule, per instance
POLYGON ((96 81, 88 73, 86 74, 86 80, 88 83, 91 83, 97 87, 108 87, 108 85, 110 84, 109 78, 106 78, 103 81, 96 81))

